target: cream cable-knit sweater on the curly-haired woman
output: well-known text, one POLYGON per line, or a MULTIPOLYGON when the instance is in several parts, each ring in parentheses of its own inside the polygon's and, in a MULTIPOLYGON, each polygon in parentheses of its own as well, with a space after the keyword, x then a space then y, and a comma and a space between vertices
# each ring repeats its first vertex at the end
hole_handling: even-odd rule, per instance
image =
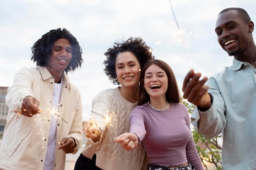
POLYGON ((101 91, 92 101, 91 119, 103 130, 102 136, 96 143, 87 138, 82 154, 91 159, 96 153, 96 166, 103 170, 141 170, 145 154, 143 144, 126 151, 113 141, 124 132, 129 132, 129 116, 136 106, 137 103, 124 99, 118 88, 101 91), (104 117, 107 113, 115 115, 112 126, 106 125, 104 117))

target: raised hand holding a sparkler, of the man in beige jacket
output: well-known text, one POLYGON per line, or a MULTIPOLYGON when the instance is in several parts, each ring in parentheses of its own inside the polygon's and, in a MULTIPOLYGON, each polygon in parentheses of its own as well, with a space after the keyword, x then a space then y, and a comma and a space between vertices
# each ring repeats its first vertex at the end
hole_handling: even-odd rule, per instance
POLYGON ((40 113, 39 100, 32 96, 27 96, 22 102, 21 114, 27 117, 32 117, 37 113, 40 113))

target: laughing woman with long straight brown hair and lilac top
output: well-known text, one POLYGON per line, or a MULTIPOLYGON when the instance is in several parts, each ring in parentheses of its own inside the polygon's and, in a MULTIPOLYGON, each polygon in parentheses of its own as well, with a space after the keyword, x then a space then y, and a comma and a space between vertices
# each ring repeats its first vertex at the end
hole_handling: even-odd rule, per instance
POLYGON ((142 68, 138 106, 130 114, 130 133, 114 141, 124 150, 137 148, 143 141, 148 170, 203 170, 189 113, 180 103, 175 75, 166 62, 150 60, 142 68))

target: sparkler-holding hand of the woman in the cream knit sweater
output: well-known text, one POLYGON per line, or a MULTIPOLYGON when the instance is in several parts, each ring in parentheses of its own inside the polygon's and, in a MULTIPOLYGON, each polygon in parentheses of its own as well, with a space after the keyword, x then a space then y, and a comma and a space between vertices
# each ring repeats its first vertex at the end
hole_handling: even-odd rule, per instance
POLYGON ((97 126, 97 123, 90 120, 84 122, 82 130, 85 137, 92 139, 97 138, 102 133, 102 130, 97 126))

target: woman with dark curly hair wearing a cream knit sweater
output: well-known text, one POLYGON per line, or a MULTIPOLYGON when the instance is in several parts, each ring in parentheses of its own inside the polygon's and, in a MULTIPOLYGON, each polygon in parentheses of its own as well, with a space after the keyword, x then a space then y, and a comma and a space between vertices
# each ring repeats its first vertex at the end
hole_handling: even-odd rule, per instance
POLYGON ((105 73, 117 88, 101 91, 92 101, 91 119, 83 125, 87 144, 76 161, 75 170, 141 170, 145 150, 132 152, 114 143, 115 137, 129 131, 129 115, 139 98, 140 69, 154 56, 141 38, 129 38, 106 53, 105 73), (109 126, 106 115, 114 113, 109 126), (95 126, 97 124, 97 126, 95 126), (97 157, 97 158, 96 158, 97 157))

